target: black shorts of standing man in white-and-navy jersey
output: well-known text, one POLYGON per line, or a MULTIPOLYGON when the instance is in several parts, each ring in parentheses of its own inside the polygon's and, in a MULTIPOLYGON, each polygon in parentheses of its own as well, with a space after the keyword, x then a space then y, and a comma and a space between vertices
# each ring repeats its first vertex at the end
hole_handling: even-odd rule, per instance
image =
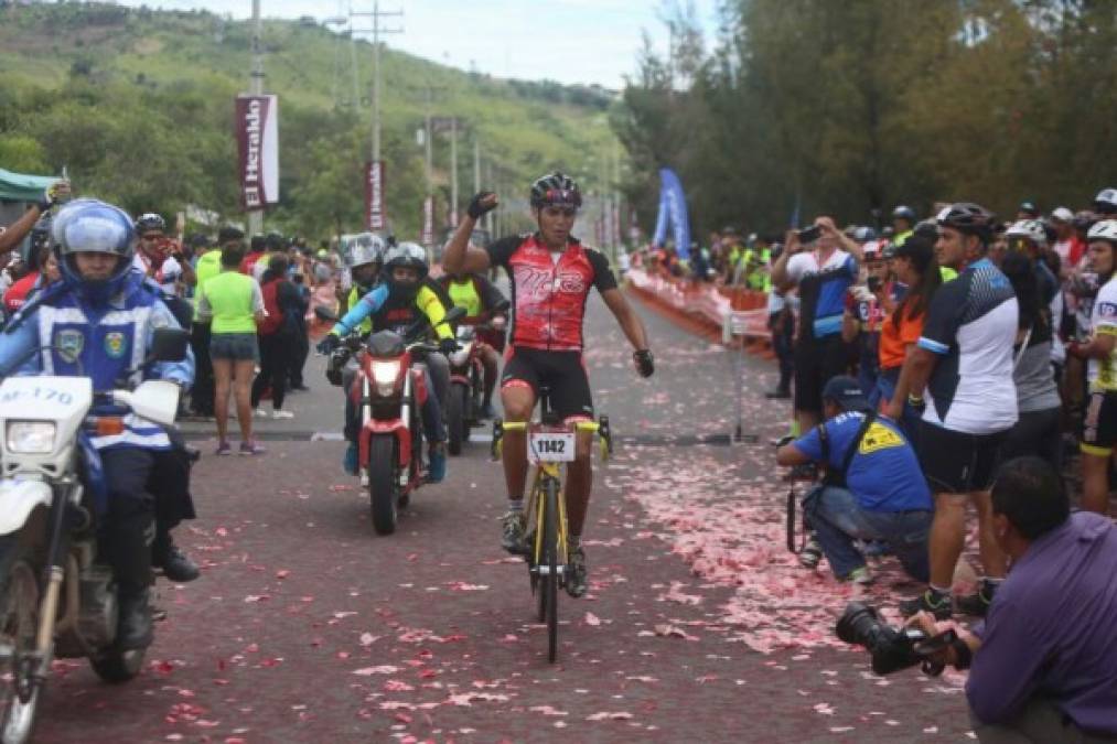
POLYGON ((936 494, 972 494, 993 485, 1009 431, 972 435, 919 421, 919 465, 936 494))

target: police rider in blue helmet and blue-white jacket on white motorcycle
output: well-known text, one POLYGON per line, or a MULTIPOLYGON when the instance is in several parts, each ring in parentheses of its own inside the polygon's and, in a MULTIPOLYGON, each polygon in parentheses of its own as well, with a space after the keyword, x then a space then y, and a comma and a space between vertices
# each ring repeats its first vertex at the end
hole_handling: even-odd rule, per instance
MULTIPOLYGON (((142 364, 155 328, 179 327, 160 294, 132 271, 132 219, 111 204, 80 199, 59 211, 51 236, 63 280, 26 306, 0 336, 0 370, 26 359, 20 374, 85 375, 95 391, 112 390, 125 376, 189 385, 189 353, 181 362, 153 363, 126 375, 142 364), (44 345, 48 347, 34 353, 44 345)), ((120 407, 97 403, 93 412, 124 418, 122 433, 92 439, 108 492, 98 556, 112 565, 117 583, 117 646, 141 649, 152 641, 149 542, 155 499, 147 484, 157 454, 169 451, 171 440, 159 426, 120 407)))

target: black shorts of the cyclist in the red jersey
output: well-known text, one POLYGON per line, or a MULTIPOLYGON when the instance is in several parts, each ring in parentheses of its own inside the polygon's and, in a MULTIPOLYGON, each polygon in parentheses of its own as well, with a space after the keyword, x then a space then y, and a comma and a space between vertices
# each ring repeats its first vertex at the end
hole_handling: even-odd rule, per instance
POLYGON ((500 375, 500 388, 527 384, 540 394, 540 385, 551 390, 551 410, 563 419, 593 418, 593 397, 581 352, 543 351, 509 346, 500 375))

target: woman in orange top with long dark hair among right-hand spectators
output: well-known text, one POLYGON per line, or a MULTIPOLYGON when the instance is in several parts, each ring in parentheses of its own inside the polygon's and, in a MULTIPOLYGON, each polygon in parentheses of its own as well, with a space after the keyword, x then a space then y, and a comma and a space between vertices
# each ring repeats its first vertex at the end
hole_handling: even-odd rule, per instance
POLYGON ((927 307, 943 276, 935 260, 935 244, 919 232, 892 248, 890 258, 892 275, 907 292, 880 327, 880 374, 870 402, 899 423, 914 443, 920 413, 908 403, 909 365, 905 362, 919 341, 927 307))

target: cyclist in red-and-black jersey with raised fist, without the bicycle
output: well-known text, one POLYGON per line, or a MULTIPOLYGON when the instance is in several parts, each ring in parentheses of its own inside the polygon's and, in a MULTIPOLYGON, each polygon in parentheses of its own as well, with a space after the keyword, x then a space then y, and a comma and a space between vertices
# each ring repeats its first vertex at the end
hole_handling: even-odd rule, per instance
MULTIPOLYGON (((551 407, 567 422, 593 417, 590 381, 582 361, 582 321, 591 287, 596 287, 636 352, 632 359, 642 376, 655 362, 643 324, 617 288, 605 257, 571 236, 582 206, 577 184, 562 173, 550 173, 532 184, 532 214, 538 230, 502 238, 487 248, 469 247, 477 220, 497 206, 491 192, 480 192, 469 203, 443 256, 451 274, 485 271, 503 266, 512 279, 512 332, 500 382, 500 402, 509 421, 532 417, 540 385, 550 389, 551 407)), ((582 597, 586 590, 582 526, 590 500, 593 469, 590 432, 579 432, 575 460, 566 475, 565 499, 570 532, 570 576, 566 591, 582 597)), ((510 553, 524 549, 524 487, 527 446, 524 432, 508 431, 504 441, 504 476, 508 512, 503 518, 502 545, 510 553)))

